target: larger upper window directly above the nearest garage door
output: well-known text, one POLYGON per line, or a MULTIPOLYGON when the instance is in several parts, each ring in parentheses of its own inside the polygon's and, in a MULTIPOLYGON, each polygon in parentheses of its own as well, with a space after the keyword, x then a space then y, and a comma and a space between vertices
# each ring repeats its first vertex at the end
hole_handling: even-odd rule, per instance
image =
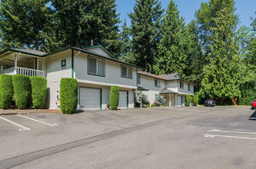
POLYGON ((88 57, 88 74, 105 76, 105 61, 88 57))

